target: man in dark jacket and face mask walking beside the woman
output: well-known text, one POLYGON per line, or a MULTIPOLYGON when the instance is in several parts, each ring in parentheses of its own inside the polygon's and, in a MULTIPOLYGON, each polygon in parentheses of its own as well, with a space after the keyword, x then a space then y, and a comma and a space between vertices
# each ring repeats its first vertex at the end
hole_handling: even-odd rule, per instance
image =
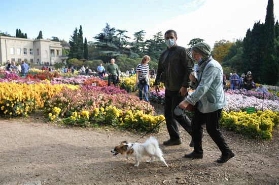
MULTIPOLYGON (((163 142, 164 145, 180 145, 182 143, 176 121, 192 135, 189 118, 184 114, 181 116, 174 114, 175 108, 188 95, 189 76, 194 72, 194 63, 190 57, 190 52, 186 48, 179 47, 176 41, 176 31, 167 30, 165 43, 168 48, 159 58, 157 76, 154 82, 156 92, 160 91, 159 81, 163 82, 166 88, 164 115, 170 139, 163 142)), ((194 147, 193 141, 191 141, 190 147, 194 147)))

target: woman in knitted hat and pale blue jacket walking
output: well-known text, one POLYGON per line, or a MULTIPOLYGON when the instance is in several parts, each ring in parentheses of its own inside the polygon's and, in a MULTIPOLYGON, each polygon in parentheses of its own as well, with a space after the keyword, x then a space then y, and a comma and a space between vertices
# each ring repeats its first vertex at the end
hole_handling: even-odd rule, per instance
POLYGON ((223 107, 226 106, 226 98, 223 91, 223 69, 219 62, 211 56, 210 45, 199 42, 191 49, 192 57, 198 62, 197 78, 190 74, 190 80, 197 88, 182 101, 180 108, 186 109, 189 104, 197 104, 192 119, 192 132, 194 140, 194 151, 186 154, 186 158, 201 159, 202 150, 202 125, 206 124, 206 130, 212 140, 221 150, 221 157, 217 159, 218 163, 227 162, 234 157, 234 153, 228 147, 222 132, 219 130, 219 119, 223 107))

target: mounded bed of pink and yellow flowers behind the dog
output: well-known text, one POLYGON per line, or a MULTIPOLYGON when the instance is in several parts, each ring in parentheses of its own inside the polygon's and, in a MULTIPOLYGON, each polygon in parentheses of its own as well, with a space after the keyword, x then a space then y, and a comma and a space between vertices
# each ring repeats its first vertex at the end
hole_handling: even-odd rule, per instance
POLYGON ((64 124, 83 127, 110 125, 147 131, 164 119, 153 115, 148 102, 111 86, 65 89, 48 101, 45 110, 50 120, 59 117, 64 124))

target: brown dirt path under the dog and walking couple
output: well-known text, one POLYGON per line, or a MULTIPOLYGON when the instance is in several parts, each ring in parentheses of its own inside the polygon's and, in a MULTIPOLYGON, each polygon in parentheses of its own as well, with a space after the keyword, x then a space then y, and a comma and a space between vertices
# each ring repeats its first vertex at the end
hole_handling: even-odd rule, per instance
MULTIPOLYGON (((39 117, 39 116, 38 116, 39 117)), ((40 116, 41 117, 41 116, 40 116)), ((127 161, 110 150, 140 134, 111 129, 60 128, 36 118, 0 118, 0 184, 278 184, 278 129, 272 141, 249 140, 229 131, 224 136, 236 156, 216 163, 220 151, 205 133, 203 159, 184 154, 190 136, 180 127, 183 144, 165 147, 166 127, 155 134, 164 153, 162 163, 127 161), (29 183, 30 184, 30 183, 29 183)), ((144 142, 144 137, 140 142, 144 142)))

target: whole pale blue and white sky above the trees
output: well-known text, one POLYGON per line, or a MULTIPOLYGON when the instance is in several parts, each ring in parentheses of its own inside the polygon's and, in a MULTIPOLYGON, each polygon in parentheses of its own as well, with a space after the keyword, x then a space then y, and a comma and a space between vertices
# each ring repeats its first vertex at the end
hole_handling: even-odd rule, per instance
MULTIPOLYGON (((145 30, 146 38, 159 31, 174 29, 178 43, 184 47, 193 38, 202 38, 212 47, 217 40, 245 37, 255 21, 264 22, 267 0, 9 0, 1 3, 0 30, 15 36, 16 29, 36 38, 56 36, 69 40, 80 25, 83 37, 102 32, 108 23, 127 30, 132 37, 145 30)), ((279 2, 274 1, 275 20, 279 17, 279 2)))

